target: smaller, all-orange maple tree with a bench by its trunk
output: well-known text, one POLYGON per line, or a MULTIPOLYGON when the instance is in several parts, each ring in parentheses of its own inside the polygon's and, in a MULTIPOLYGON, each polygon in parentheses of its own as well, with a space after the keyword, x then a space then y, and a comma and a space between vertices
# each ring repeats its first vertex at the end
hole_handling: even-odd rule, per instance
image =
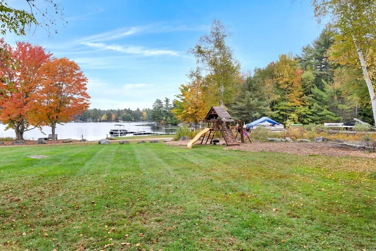
POLYGON ((88 79, 78 64, 68 58, 54 58, 42 67, 45 76, 37 99, 39 113, 52 129, 55 140, 56 124, 68 122, 89 107, 86 92, 88 79))

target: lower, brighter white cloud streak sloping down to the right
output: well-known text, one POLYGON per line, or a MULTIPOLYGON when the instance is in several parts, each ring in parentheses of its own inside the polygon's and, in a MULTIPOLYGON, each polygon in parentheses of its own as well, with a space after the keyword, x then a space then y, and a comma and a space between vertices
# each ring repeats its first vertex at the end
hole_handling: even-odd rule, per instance
POLYGON ((146 49, 142 46, 128 46, 124 47, 117 44, 105 44, 105 43, 92 43, 92 42, 81 42, 89 47, 101 49, 101 50, 111 50, 123 52, 126 54, 141 54, 144 56, 160 56, 160 55, 170 55, 178 56, 179 54, 176 51, 172 50, 162 50, 162 49, 146 49))

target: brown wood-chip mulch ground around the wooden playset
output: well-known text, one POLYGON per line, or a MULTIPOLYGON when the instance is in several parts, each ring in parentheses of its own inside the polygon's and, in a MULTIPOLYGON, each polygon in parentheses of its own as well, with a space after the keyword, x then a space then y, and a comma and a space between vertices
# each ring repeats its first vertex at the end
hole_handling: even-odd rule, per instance
MULTIPOLYGON (((171 141, 166 142, 168 145, 186 146, 189 141, 171 141)), ((220 142, 219 145, 224 143, 220 142)), ((194 146, 193 146, 194 147, 194 146)), ((294 153, 299 155, 321 155, 334 157, 363 157, 376 158, 376 152, 367 153, 348 148, 339 148, 328 143, 288 143, 288 142, 246 142, 240 145, 233 145, 224 148, 225 150, 242 150, 249 152, 277 152, 277 153, 294 153)))

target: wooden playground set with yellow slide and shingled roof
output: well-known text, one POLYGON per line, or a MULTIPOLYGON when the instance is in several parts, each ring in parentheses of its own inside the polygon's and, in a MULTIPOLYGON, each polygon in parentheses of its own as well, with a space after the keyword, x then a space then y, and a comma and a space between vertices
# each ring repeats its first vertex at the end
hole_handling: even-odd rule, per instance
MULTIPOLYGON (((208 142, 212 144, 215 132, 221 132, 226 145, 239 145, 237 141, 238 133, 240 133, 240 142, 244 143, 244 136, 247 136, 249 142, 251 142, 249 136, 243 128, 241 119, 232 119, 230 114, 221 106, 212 106, 206 115, 205 119, 200 121, 206 124, 206 128, 187 144, 187 148, 191 148, 193 144, 206 145, 208 142), (238 123, 240 132, 237 130, 236 136, 233 135, 231 127, 238 123)), ((251 142, 252 143, 252 142, 251 142)))

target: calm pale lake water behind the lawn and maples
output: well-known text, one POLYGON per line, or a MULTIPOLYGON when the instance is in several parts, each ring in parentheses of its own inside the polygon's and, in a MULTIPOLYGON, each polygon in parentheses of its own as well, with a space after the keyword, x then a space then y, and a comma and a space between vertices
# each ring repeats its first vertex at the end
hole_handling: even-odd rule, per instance
MULTIPOLYGON (((162 131, 171 132, 176 131, 176 126, 154 126, 152 123, 146 122, 87 122, 87 123, 67 123, 64 125, 57 125, 55 133, 58 135, 58 139, 81 139, 82 135, 84 139, 99 140, 106 138, 109 135, 111 129, 115 129, 115 124, 122 124, 125 129, 132 132, 152 132, 162 131)), ((42 132, 37 128, 24 133, 24 139, 36 140, 51 134, 51 127, 42 127, 42 132)), ((132 136, 132 135, 129 135, 132 136)), ((15 138, 14 130, 5 130, 5 125, 0 123, 0 138, 1 137, 13 137, 15 138)))

